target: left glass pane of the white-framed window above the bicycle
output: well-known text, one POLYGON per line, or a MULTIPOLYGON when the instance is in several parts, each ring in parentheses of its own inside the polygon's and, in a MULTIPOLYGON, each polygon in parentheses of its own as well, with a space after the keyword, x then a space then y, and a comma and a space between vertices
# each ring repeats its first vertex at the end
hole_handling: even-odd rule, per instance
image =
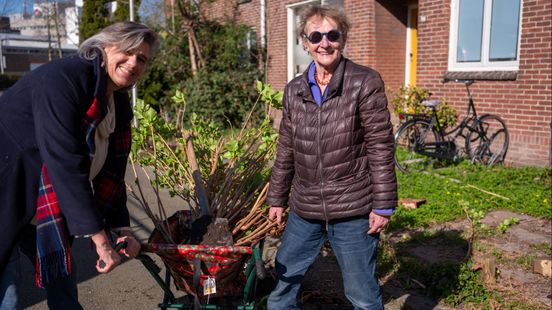
POLYGON ((457 62, 481 61, 484 0, 460 0, 457 62))

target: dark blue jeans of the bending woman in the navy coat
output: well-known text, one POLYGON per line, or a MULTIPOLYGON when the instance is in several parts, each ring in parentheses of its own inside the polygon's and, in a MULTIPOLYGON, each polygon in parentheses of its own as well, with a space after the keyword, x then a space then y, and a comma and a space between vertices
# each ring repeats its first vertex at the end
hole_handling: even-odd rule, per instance
MULTIPOLYGON (((29 226, 24 230, 19 246, 14 248, 6 268, 0 274, 0 310, 22 308, 22 305, 18 303, 21 277, 21 255, 19 253, 21 251, 25 254, 34 265, 36 260, 36 241, 34 236, 34 226, 29 226)), ((73 261, 71 260, 72 272, 70 276, 55 279, 46 285, 48 309, 82 310, 82 306, 78 301, 76 269, 73 261)))

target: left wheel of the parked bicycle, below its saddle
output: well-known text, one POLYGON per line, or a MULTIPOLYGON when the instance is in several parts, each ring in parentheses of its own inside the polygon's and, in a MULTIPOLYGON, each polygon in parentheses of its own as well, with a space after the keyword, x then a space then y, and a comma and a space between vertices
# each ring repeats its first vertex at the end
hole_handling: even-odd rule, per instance
POLYGON ((400 171, 422 171, 436 161, 424 155, 426 144, 440 142, 441 136, 428 121, 414 119, 404 123, 395 134, 395 164, 400 171))

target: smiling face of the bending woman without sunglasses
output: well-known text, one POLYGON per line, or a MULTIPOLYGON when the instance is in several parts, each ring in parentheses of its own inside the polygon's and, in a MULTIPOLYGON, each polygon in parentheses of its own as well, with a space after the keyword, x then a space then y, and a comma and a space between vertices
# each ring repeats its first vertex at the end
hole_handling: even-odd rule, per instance
POLYGON ((108 92, 136 84, 144 75, 151 58, 151 47, 145 42, 131 51, 122 51, 116 45, 108 46, 104 51, 105 67, 109 76, 108 92))

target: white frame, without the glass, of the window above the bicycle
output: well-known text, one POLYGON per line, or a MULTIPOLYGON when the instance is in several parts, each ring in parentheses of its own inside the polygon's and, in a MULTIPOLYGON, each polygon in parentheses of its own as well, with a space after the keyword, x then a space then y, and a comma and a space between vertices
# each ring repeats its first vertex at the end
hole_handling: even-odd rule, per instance
POLYGON ((458 15, 460 10, 460 0, 451 0, 450 10, 450 34, 449 34, 449 71, 517 71, 519 69, 520 41, 521 41, 521 21, 523 12, 523 0, 520 0, 519 6, 519 29, 517 59, 514 61, 489 61, 489 45, 491 33, 491 13, 492 2, 500 0, 484 0, 483 12, 483 37, 481 44, 480 62, 457 62, 456 49, 458 47, 458 15))

